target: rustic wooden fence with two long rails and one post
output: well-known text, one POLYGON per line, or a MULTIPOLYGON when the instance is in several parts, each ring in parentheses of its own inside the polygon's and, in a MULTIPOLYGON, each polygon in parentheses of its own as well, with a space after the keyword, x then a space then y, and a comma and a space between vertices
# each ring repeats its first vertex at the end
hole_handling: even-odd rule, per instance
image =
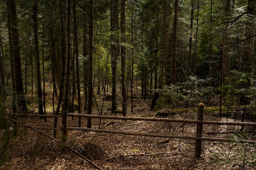
MULTIPOLYGON (((242 144, 256 144, 256 141, 250 140, 233 140, 233 139, 222 139, 222 138, 211 138, 202 137, 203 124, 214 124, 214 125, 230 125, 230 126, 252 126, 256 127, 256 123, 248 122, 230 122, 230 121, 204 121, 203 120, 203 110, 204 104, 198 104, 198 120, 192 119, 169 119, 169 118, 155 118, 155 117, 123 117, 123 116, 106 116, 106 115, 83 115, 68 113, 67 116, 72 117, 85 117, 85 118, 95 118, 95 119, 118 119, 118 120, 139 120, 139 121, 162 121, 162 122, 178 122, 178 123, 193 123, 197 124, 197 132, 195 137, 189 136, 178 136, 178 135, 159 135, 159 134, 149 134, 149 133, 137 133, 137 132, 126 132, 118 130, 104 130, 104 129, 93 129, 93 128, 73 128, 68 127, 67 130, 83 130, 92 132, 104 132, 113 134, 123 134, 123 135, 137 135, 137 136, 148 136, 148 137, 165 137, 173 139, 193 139, 196 141, 195 144, 195 157, 200 157, 201 152, 201 142, 206 141, 221 141, 221 142, 240 142, 242 144)), ((40 117, 61 117, 61 115, 35 115, 35 114, 11 114, 6 115, 17 115, 17 116, 40 116, 40 117)), ((38 128, 39 129, 39 128, 38 128)), ((51 130, 52 128, 49 128, 51 130)))

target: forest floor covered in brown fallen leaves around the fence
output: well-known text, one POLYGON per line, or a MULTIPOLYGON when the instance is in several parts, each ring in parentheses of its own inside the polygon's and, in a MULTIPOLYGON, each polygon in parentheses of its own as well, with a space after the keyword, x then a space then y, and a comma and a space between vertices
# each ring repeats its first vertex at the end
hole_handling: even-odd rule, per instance
MULTIPOLYGON (((139 101, 138 101, 139 103, 139 101)), ((149 106, 148 106, 149 107, 149 106)), ((121 108, 120 108, 121 109, 121 108)), ((168 110, 160 110, 167 112, 168 110)), ((197 112, 190 110, 174 111, 170 118, 197 119, 197 112)), ((48 112, 47 114, 52 114, 48 112)), ((94 113, 98 115, 97 108, 94 113)), ((204 113, 204 120, 234 121, 214 116, 214 111, 204 113)), ((112 115, 106 111, 103 115, 112 115)), ((121 114, 117 114, 121 116, 121 114)), ((129 117, 159 117, 156 112, 148 111, 143 104, 137 104, 136 111, 128 111, 129 117)), ((51 128, 54 119, 39 117, 20 117, 18 121, 34 128, 51 128)), ((236 121, 240 121, 237 119, 236 121)), ((82 128, 87 119, 82 118, 82 128)), ((78 118, 68 117, 68 126, 78 127, 78 118)), ((61 127, 61 118, 58 128, 61 127)), ((99 128, 99 120, 92 119, 92 128, 99 128)), ((196 124, 167 123, 157 121, 130 121, 101 119, 101 128, 127 132, 154 133, 163 135, 195 136, 196 124)), ((204 125, 203 137, 256 140, 253 133, 239 132, 241 126, 204 125), (222 132, 209 134, 208 132, 222 132)), ((255 130, 255 129, 254 129, 255 130)), ((53 136, 53 130, 40 130, 53 136)), ((244 131, 252 131, 245 127, 244 131)), ((0 131, 0 135, 3 132, 0 131)), ((61 140, 58 131, 58 140, 61 140)), ((103 170, 255 170, 256 147, 251 144, 202 141, 201 158, 195 158, 195 140, 170 139, 135 135, 69 130, 67 146, 70 146, 103 170)), ((35 130, 21 127, 18 135, 10 141, 11 147, 6 154, 7 161, 1 170, 94 170, 88 161, 71 150, 59 150, 59 143, 35 130)))

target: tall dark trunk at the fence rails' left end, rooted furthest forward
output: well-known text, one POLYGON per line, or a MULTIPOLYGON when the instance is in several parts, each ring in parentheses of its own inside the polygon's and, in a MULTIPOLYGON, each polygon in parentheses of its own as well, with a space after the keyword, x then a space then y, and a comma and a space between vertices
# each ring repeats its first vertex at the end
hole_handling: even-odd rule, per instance
POLYGON ((62 141, 65 143, 67 139, 67 106, 68 106, 68 90, 70 82, 70 4, 71 0, 66 0, 66 62, 65 62, 65 80, 63 91, 62 106, 62 141))

